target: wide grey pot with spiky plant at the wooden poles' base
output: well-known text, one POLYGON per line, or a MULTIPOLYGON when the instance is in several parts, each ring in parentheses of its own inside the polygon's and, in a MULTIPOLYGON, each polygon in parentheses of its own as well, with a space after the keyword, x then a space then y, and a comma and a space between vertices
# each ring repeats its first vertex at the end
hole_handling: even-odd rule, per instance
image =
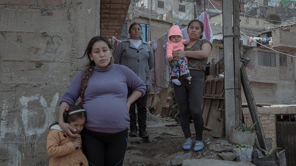
POLYGON ((233 126, 230 133, 230 143, 235 144, 238 142, 239 144, 248 144, 254 146, 256 135, 256 131, 254 129, 255 124, 256 122, 251 126, 247 126, 246 124, 233 126))

